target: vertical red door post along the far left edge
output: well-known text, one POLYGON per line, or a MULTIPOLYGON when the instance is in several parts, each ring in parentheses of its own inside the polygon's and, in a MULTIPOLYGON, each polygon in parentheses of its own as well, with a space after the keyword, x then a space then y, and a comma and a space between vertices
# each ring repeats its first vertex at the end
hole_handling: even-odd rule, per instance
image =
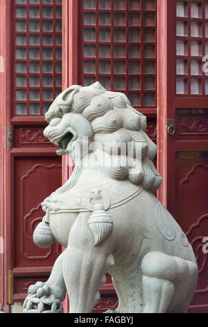
MULTIPOLYGON (((8 271, 12 269, 13 256, 13 228, 12 228, 12 161, 10 157, 10 147, 7 146, 7 130, 10 126, 10 102, 11 102, 11 44, 10 33, 12 24, 10 15, 12 6, 10 0, 0 2, 0 196, 1 196, 1 216, 0 216, 0 236, 3 239, 3 253, 1 258, 0 273, 0 309, 1 304, 8 303, 8 271)), ((5 310, 6 308, 3 307, 5 310)))

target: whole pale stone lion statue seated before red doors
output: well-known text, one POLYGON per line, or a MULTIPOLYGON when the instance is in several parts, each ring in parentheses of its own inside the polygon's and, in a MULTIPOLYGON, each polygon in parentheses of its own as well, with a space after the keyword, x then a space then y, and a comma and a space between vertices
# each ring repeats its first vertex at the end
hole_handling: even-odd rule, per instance
MULTIPOLYGON (((45 115, 44 136, 75 166, 42 203, 35 244, 66 250, 45 283, 28 289, 24 312, 92 312, 110 273, 116 312, 187 312, 196 290, 196 257, 184 232, 155 198, 162 182, 146 117, 123 93, 100 83, 71 86, 45 115)), ((109 311, 110 312, 110 311, 109 311)))

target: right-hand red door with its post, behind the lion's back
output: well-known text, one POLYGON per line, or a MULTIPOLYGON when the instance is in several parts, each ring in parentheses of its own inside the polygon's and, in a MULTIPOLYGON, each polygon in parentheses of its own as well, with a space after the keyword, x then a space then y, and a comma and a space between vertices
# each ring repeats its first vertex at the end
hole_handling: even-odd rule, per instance
POLYGON ((196 254, 198 287, 189 312, 208 312, 207 1, 158 2, 159 198, 196 254))

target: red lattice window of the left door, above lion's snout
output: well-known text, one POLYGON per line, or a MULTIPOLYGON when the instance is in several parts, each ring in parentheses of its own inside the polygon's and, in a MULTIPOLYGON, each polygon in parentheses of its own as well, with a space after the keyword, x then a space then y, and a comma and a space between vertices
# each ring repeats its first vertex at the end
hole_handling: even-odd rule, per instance
POLYGON ((44 115, 62 90, 62 0, 15 0, 15 115, 44 115))

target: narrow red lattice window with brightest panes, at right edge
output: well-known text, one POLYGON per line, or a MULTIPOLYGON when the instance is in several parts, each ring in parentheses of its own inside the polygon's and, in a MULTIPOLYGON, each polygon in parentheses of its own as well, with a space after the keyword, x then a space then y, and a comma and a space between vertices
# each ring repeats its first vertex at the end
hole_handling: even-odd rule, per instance
POLYGON ((176 1, 176 93, 208 95, 202 57, 208 55, 207 1, 176 1))

